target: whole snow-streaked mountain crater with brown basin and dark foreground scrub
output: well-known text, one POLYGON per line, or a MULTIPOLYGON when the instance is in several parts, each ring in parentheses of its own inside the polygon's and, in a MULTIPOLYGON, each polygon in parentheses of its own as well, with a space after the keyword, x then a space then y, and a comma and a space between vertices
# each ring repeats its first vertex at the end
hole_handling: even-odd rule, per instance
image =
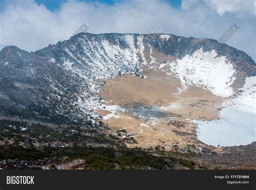
POLYGON ((255 168, 255 80, 249 55, 213 39, 79 33, 36 52, 6 46, 0 166, 30 168, 24 160, 32 159, 51 168, 45 160, 68 156, 85 158, 75 165, 86 169, 118 168, 116 160, 125 168, 255 168))

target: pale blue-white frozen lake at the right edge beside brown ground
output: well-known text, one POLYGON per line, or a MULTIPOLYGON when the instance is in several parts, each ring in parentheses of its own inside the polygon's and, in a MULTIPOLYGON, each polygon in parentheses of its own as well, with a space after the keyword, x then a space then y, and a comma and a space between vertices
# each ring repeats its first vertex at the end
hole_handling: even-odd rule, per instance
POLYGON ((220 111, 220 119, 194 121, 198 124, 198 139, 208 145, 247 145, 255 141, 256 115, 226 107, 220 111))

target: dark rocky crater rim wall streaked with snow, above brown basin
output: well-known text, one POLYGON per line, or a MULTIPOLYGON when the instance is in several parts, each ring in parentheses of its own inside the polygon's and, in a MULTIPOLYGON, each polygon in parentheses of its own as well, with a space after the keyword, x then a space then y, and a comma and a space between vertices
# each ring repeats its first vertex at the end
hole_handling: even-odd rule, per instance
POLYGON ((150 69, 179 79, 178 93, 196 85, 223 97, 255 96, 255 90, 250 95, 241 90, 246 82, 253 87, 252 58, 217 40, 79 33, 36 52, 15 46, 0 51, 0 115, 95 125, 96 109, 105 107, 97 95, 104 79, 150 69))

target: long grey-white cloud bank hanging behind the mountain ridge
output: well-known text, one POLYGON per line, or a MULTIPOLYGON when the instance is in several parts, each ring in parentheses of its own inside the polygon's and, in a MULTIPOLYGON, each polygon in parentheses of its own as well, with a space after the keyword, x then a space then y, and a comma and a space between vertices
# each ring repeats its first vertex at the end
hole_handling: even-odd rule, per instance
POLYGON ((163 33, 213 39, 218 39, 236 23, 240 29, 227 44, 245 51, 255 60, 255 15, 241 16, 247 5, 239 6, 239 10, 237 5, 229 7, 222 2, 184 0, 182 9, 174 9, 163 0, 124 1, 114 5, 68 1, 60 10, 51 12, 32 0, 5 1, 0 12, 0 31, 10 23, 13 30, 2 41, 0 36, 0 48, 16 45, 35 51, 69 39, 84 23, 91 33, 149 33, 160 23, 164 26, 163 33))

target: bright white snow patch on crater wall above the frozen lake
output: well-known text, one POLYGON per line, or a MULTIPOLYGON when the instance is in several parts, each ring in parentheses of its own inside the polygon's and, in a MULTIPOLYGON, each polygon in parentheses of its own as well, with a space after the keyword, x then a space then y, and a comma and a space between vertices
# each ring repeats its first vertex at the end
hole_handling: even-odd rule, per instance
POLYGON ((197 85, 223 97, 234 93, 230 87, 235 80, 234 65, 225 56, 218 56, 214 50, 204 52, 200 48, 170 65, 183 85, 180 92, 191 85, 197 85))

